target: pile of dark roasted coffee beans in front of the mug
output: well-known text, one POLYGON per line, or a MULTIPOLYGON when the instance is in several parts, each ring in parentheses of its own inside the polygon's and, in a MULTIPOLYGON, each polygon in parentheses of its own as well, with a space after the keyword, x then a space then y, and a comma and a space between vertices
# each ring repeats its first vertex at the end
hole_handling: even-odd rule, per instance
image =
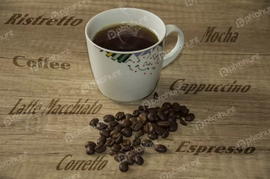
POLYGON ((153 108, 139 106, 132 114, 121 111, 115 116, 108 114, 103 117, 106 123, 95 118, 91 120, 90 125, 100 130, 100 138, 96 143, 86 142, 86 154, 103 153, 110 147, 109 155, 116 154, 114 159, 120 163, 119 170, 126 172, 129 165, 144 163, 140 156, 144 154, 144 147, 154 147, 157 152, 165 153, 167 147, 161 144, 154 146, 152 140, 157 140, 158 136, 165 139, 170 132, 175 132, 178 128, 177 120, 180 120, 181 125, 187 125, 187 122, 193 121, 194 118, 195 115, 189 113, 187 107, 180 106, 177 102, 165 102, 162 107, 153 108), (132 141, 126 139, 132 136, 133 131, 136 132, 135 138, 132 141), (140 137, 144 134, 147 134, 150 140, 141 141, 140 137))

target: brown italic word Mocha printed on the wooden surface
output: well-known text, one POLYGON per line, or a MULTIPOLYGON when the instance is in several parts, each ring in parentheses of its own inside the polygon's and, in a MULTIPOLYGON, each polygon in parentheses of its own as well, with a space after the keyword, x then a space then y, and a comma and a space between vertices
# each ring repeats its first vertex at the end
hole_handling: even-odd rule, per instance
MULTIPOLYGON (((235 42, 236 41, 236 39, 238 37, 238 33, 235 32, 234 33, 235 36, 232 36, 232 32, 231 32, 232 27, 229 28, 227 34, 226 34, 226 32, 223 32, 222 34, 219 34, 218 32, 215 32, 214 34, 212 34, 215 28, 216 27, 212 27, 212 28, 207 27, 207 30, 205 31, 204 36, 203 36, 203 38, 207 37, 205 42, 208 42, 210 38, 211 38, 210 42, 215 42, 217 39, 218 39, 218 42, 229 42, 230 39, 231 39, 230 42, 235 42), (225 35, 223 41, 221 40, 222 35, 225 35)), ((201 42, 203 41, 203 38, 201 39, 201 42)))

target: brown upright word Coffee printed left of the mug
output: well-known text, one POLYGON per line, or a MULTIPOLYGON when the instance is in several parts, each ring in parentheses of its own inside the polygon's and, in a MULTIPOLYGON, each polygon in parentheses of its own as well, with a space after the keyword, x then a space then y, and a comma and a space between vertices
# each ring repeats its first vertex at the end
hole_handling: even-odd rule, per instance
MULTIPOLYGON (((25 58, 24 56, 16 56, 16 57, 14 57, 13 58, 13 64, 14 65, 16 65, 17 67, 25 67, 25 65, 19 65, 18 64, 18 58, 19 57, 22 57, 22 58, 25 58)), ((40 57, 39 59, 38 59, 38 62, 36 62, 36 61, 34 61, 34 60, 28 60, 27 62, 26 62, 26 65, 27 65, 27 67, 30 67, 30 68, 48 68, 48 64, 49 64, 49 67, 50 68, 52 68, 52 69, 58 69, 59 68, 59 63, 58 62, 50 62, 50 63, 48 63, 48 61, 49 61, 49 58, 45 58, 45 59, 43 59, 43 57, 40 57), (37 65, 37 63, 38 63, 38 65, 37 65)), ((67 62, 63 62, 61 65, 60 65, 60 67, 62 68, 62 69, 70 69, 70 64, 69 63, 67 63, 67 62)))

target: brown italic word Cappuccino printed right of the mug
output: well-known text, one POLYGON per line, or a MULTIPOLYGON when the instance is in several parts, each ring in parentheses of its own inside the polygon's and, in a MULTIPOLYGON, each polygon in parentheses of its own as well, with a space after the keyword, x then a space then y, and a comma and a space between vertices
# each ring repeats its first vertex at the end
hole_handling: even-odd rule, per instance
MULTIPOLYGON (((176 83, 178 81, 185 81, 185 79, 177 79, 176 81, 174 81, 171 86, 170 86, 170 90, 171 91, 174 91, 174 86, 176 85, 176 83)), ((232 84, 235 84, 237 81, 235 80, 232 84)), ((221 85, 216 85, 215 84, 208 84, 207 87, 206 87, 206 84, 200 84, 199 86, 197 84, 187 84, 187 83, 184 83, 182 87, 180 87, 180 90, 181 91, 185 91, 184 94, 188 94, 190 91, 194 91, 193 94, 197 94, 199 91, 204 91, 205 92, 212 92, 212 90, 214 89, 214 92, 219 92, 219 87, 221 88, 220 89, 220 92, 238 92, 239 90, 241 90, 241 92, 248 92, 248 90, 251 88, 250 85, 245 85, 244 87, 242 87, 242 85, 224 85, 222 86, 221 85), (222 87, 221 87, 222 86, 222 87), (228 86, 228 89, 225 89, 226 87, 228 86), (206 87, 206 88, 205 88, 206 87), (214 88, 215 87, 215 88, 214 88), (234 88, 232 88, 234 87, 234 88)))

